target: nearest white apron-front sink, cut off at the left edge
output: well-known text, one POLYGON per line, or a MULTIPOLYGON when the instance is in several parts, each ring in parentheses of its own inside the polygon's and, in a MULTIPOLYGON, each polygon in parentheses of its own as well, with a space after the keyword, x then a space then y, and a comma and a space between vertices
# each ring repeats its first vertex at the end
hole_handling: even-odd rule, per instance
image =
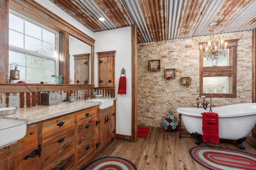
POLYGON ((26 135, 27 123, 12 119, 0 119, 0 148, 22 139, 26 135))

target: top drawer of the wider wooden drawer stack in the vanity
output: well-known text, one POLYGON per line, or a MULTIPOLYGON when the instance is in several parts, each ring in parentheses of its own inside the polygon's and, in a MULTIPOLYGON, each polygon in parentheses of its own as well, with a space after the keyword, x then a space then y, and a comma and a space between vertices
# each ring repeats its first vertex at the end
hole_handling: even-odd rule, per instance
POLYGON ((42 123, 42 136, 46 136, 58 130, 64 129, 70 125, 74 125, 74 123, 74 114, 53 118, 49 121, 44 121, 42 123))

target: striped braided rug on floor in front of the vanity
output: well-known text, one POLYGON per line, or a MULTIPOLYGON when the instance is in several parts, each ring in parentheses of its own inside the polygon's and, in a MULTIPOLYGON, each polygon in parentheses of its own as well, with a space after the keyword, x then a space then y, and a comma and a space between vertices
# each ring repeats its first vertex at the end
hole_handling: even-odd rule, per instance
POLYGON ((137 170, 129 160, 119 157, 104 157, 94 160, 84 170, 137 170))

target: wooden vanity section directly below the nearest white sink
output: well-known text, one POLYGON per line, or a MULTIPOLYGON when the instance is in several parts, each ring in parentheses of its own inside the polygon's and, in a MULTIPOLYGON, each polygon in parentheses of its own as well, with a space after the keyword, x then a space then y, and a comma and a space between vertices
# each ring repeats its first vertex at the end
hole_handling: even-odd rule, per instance
POLYGON ((40 158, 39 155, 35 154, 39 151, 38 148, 41 148, 38 145, 38 124, 27 125, 24 138, 0 149, 0 169, 40 170, 40 158), (28 157, 31 153, 34 154, 34 157, 28 157))

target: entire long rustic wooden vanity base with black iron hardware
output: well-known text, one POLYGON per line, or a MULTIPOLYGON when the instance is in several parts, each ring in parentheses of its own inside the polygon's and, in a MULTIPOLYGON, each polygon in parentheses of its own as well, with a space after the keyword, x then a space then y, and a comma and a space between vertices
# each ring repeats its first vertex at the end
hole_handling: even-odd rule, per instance
POLYGON ((0 149, 0 169, 82 169, 109 140, 116 139, 115 111, 116 101, 104 110, 95 106, 28 125, 24 138, 0 149), (98 117, 102 124, 96 126, 98 117), (32 151, 40 156, 24 160, 32 151))

